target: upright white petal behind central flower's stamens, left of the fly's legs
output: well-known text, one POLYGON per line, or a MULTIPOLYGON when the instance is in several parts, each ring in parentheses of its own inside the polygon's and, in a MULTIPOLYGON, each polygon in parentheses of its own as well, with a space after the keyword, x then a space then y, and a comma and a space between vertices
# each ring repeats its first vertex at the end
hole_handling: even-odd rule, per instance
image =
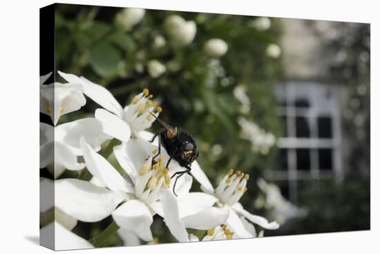
POLYGON ((138 170, 144 165, 147 154, 140 148, 135 140, 130 139, 127 143, 122 143, 113 147, 113 154, 117 162, 123 167, 125 172, 131 177, 133 183, 136 182, 138 170))

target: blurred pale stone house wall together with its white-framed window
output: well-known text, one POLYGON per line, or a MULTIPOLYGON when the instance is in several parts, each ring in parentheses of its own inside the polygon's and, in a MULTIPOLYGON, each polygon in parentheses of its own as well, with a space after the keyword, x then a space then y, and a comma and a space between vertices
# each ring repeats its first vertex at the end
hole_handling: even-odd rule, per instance
POLYGON ((339 182, 350 169, 345 158, 355 139, 342 127, 350 88, 333 81, 330 72, 341 53, 325 50, 326 40, 339 36, 337 24, 343 23, 283 19, 285 75, 275 92, 284 129, 278 140, 278 165, 267 179, 292 202, 298 201, 299 181, 339 182))

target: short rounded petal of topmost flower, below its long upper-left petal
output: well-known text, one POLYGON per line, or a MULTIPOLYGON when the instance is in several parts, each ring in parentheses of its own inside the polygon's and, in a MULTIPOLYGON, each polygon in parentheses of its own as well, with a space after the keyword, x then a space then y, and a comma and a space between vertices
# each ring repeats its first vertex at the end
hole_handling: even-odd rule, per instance
POLYGON ((131 128, 119 116, 115 116, 105 109, 95 110, 95 118, 102 123, 104 133, 127 142, 131 138, 131 128))

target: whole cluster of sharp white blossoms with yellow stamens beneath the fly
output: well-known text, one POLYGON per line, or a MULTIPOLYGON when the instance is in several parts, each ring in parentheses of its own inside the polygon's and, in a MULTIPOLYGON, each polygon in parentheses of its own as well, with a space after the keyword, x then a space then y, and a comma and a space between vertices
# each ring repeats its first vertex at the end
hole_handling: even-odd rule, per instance
POLYGON ((106 88, 84 77, 58 72, 67 83, 44 84, 51 73, 41 77, 41 113, 50 116, 53 125, 40 123, 41 161, 55 180, 41 177, 42 194, 54 188, 55 203, 41 200, 41 216, 55 213, 55 221, 41 228, 41 232, 55 230, 57 249, 90 248, 86 239, 71 230, 77 221, 96 222, 108 216, 120 227, 117 231, 125 244, 151 243, 153 216, 161 217, 178 242, 208 241, 258 237, 254 224, 276 229, 270 222, 253 215, 239 203, 247 191, 249 175, 229 170, 220 184, 213 188, 205 172, 195 161, 192 176, 203 192, 191 192, 193 177, 178 179, 173 194, 171 176, 183 168, 175 161, 166 167, 169 154, 162 148, 158 153, 158 139, 146 131, 162 108, 153 101, 148 89, 137 94, 129 105, 122 107, 106 88), (64 114, 79 110, 91 99, 99 105, 95 117, 81 118, 59 124, 64 114), (154 116, 151 115, 153 113, 154 116), (108 140, 120 140, 113 147, 113 155, 125 174, 102 156, 102 146, 108 140), (87 169, 90 181, 63 178, 65 170, 80 172, 87 169), (61 177, 59 177, 61 176, 61 177), (187 228, 205 230, 205 237, 189 235, 187 228))

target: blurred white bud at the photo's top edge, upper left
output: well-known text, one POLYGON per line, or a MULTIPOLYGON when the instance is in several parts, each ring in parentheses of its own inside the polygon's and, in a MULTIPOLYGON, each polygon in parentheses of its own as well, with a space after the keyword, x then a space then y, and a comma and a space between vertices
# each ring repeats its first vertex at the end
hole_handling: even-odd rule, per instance
POLYGON ((145 10, 140 8, 124 8, 115 16, 116 26, 129 31, 133 26, 140 23, 145 15, 145 10))

